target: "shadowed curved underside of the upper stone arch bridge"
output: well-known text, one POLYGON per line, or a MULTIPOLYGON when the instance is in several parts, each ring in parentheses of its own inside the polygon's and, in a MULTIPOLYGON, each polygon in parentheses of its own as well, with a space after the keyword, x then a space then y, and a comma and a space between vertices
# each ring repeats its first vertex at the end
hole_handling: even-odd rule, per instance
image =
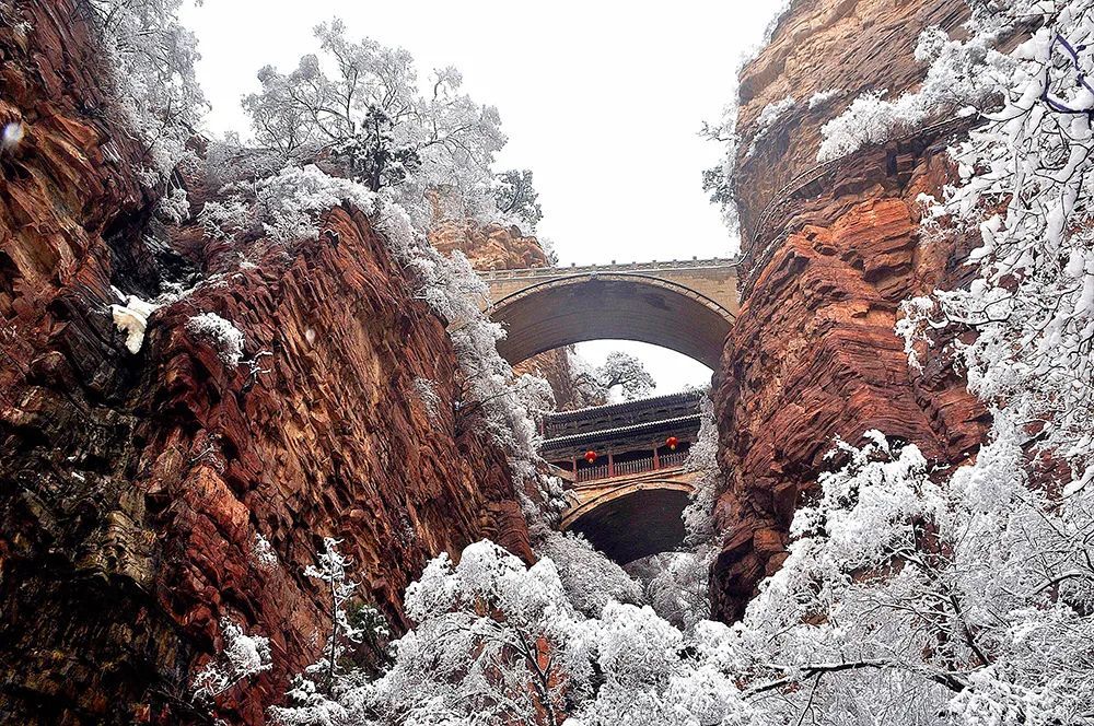
POLYGON ((718 367, 732 314, 682 285, 641 274, 579 276, 534 285, 499 301, 490 317, 512 364, 586 340, 662 346, 718 367))

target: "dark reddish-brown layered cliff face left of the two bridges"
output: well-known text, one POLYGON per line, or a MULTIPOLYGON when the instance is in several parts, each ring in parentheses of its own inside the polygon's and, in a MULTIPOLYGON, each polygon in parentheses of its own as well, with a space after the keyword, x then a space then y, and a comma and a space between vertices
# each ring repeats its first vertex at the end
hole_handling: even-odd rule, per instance
POLYGON ((244 266, 162 227, 75 0, 22 8, 28 31, 0 24, 0 126, 25 128, 0 152, 0 721, 201 721, 189 684, 234 621, 274 668, 219 715, 263 723, 329 627, 303 575, 324 536, 396 632, 428 558, 532 558, 504 455, 454 418, 444 325, 363 215, 244 266), (168 281, 196 288, 130 353, 112 286, 168 281), (242 364, 201 313, 243 331, 242 364))

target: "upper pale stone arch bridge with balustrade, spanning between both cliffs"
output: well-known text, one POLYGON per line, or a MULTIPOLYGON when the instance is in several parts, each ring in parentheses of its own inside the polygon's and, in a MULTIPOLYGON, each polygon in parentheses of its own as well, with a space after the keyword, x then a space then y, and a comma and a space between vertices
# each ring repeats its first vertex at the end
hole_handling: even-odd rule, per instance
POLYGON ((591 265, 480 272, 491 319, 508 331, 498 351, 516 364, 586 340, 662 346, 718 366, 737 313, 730 259, 591 265))

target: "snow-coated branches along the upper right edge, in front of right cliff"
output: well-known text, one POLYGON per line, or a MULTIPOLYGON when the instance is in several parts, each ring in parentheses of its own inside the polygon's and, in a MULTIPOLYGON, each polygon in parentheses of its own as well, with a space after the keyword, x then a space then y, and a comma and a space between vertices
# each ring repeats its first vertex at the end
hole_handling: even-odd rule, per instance
MULTIPOLYGON (((1028 4, 990 15, 991 26, 1027 20, 1028 4)), ((978 229, 980 277, 967 290, 908 301, 898 330, 915 361, 931 329, 975 329, 958 349, 970 389, 997 418, 1026 426, 1029 445, 1071 464, 1070 494, 1094 479, 1094 93, 1085 80, 1094 3, 1035 10, 1040 26, 994 91, 1002 107, 952 150, 959 183, 926 218, 928 235, 978 229)))

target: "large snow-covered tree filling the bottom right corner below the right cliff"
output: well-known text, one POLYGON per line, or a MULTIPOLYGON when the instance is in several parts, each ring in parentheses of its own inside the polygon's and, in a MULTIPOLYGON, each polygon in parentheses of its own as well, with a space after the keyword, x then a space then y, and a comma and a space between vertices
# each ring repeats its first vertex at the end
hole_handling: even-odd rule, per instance
POLYGON ((1090 503, 1031 488, 1016 433, 944 483, 913 445, 840 445, 735 628, 753 705, 775 723, 1094 723, 1090 503))

